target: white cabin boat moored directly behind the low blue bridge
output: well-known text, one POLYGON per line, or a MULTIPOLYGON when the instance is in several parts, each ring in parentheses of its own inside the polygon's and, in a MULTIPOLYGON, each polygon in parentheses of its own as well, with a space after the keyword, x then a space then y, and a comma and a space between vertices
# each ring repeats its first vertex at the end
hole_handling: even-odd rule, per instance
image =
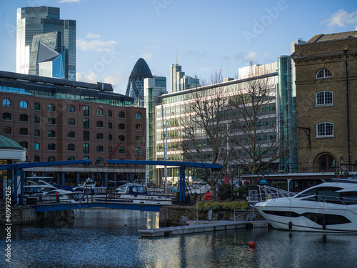
POLYGON ((101 202, 131 202, 135 204, 172 204, 171 197, 150 194, 141 184, 129 184, 119 187, 106 198, 96 198, 101 202))

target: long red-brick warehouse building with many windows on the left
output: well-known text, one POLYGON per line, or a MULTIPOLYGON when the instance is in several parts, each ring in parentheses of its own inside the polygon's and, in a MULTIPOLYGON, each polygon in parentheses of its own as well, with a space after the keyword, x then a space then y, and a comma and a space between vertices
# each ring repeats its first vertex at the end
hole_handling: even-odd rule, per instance
POLYGON ((46 167, 58 182, 74 186, 87 177, 143 179, 143 167, 110 166, 111 159, 145 159, 146 112, 111 84, 0 71, 1 134, 26 148, 27 162, 91 159, 81 167, 46 167), (120 145, 119 145, 120 144, 120 145))

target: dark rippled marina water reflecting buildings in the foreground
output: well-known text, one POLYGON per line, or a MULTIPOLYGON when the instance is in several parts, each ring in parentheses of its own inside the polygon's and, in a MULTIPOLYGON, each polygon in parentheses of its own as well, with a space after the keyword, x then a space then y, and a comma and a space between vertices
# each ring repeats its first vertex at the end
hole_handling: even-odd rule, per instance
MULTIPOLYGON (((357 236, 237 229, 141 238, 158 212, 76 210, 75 219, 12 226, 11 263, 0 267, 356 267, 357 236), (255 248, 248 242, 256 242, 255 248)), ((1 249, 6 249, 1 228, 1 249)))

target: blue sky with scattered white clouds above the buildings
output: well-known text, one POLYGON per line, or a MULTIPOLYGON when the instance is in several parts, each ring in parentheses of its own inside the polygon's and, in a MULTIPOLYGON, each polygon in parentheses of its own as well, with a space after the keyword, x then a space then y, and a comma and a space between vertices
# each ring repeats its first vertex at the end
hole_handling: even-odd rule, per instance
POLYGON ((136 61, 166 76, 238 76, 238 68, 290 55, 290 43, 357 30, 356 0, 0 0, 0 70, 16 71, 16 9, 54 6, 76 20, 76 80, 126 93, 136 61))

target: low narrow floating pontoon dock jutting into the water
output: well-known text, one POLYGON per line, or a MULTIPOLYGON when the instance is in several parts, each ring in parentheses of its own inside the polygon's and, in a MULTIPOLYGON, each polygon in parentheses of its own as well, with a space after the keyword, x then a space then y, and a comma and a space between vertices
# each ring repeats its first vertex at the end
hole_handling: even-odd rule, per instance
POLYGON ((228 229, 243 229, 248 224, 253 227, 268 227, 268 222, 250 222, 250 221, 189 221, 188 225, 176 227, 164 227, 158 229, 141 229, 141 237, 165 237, 176 234, 197 234, 202 232, 214 232, 228 229))

